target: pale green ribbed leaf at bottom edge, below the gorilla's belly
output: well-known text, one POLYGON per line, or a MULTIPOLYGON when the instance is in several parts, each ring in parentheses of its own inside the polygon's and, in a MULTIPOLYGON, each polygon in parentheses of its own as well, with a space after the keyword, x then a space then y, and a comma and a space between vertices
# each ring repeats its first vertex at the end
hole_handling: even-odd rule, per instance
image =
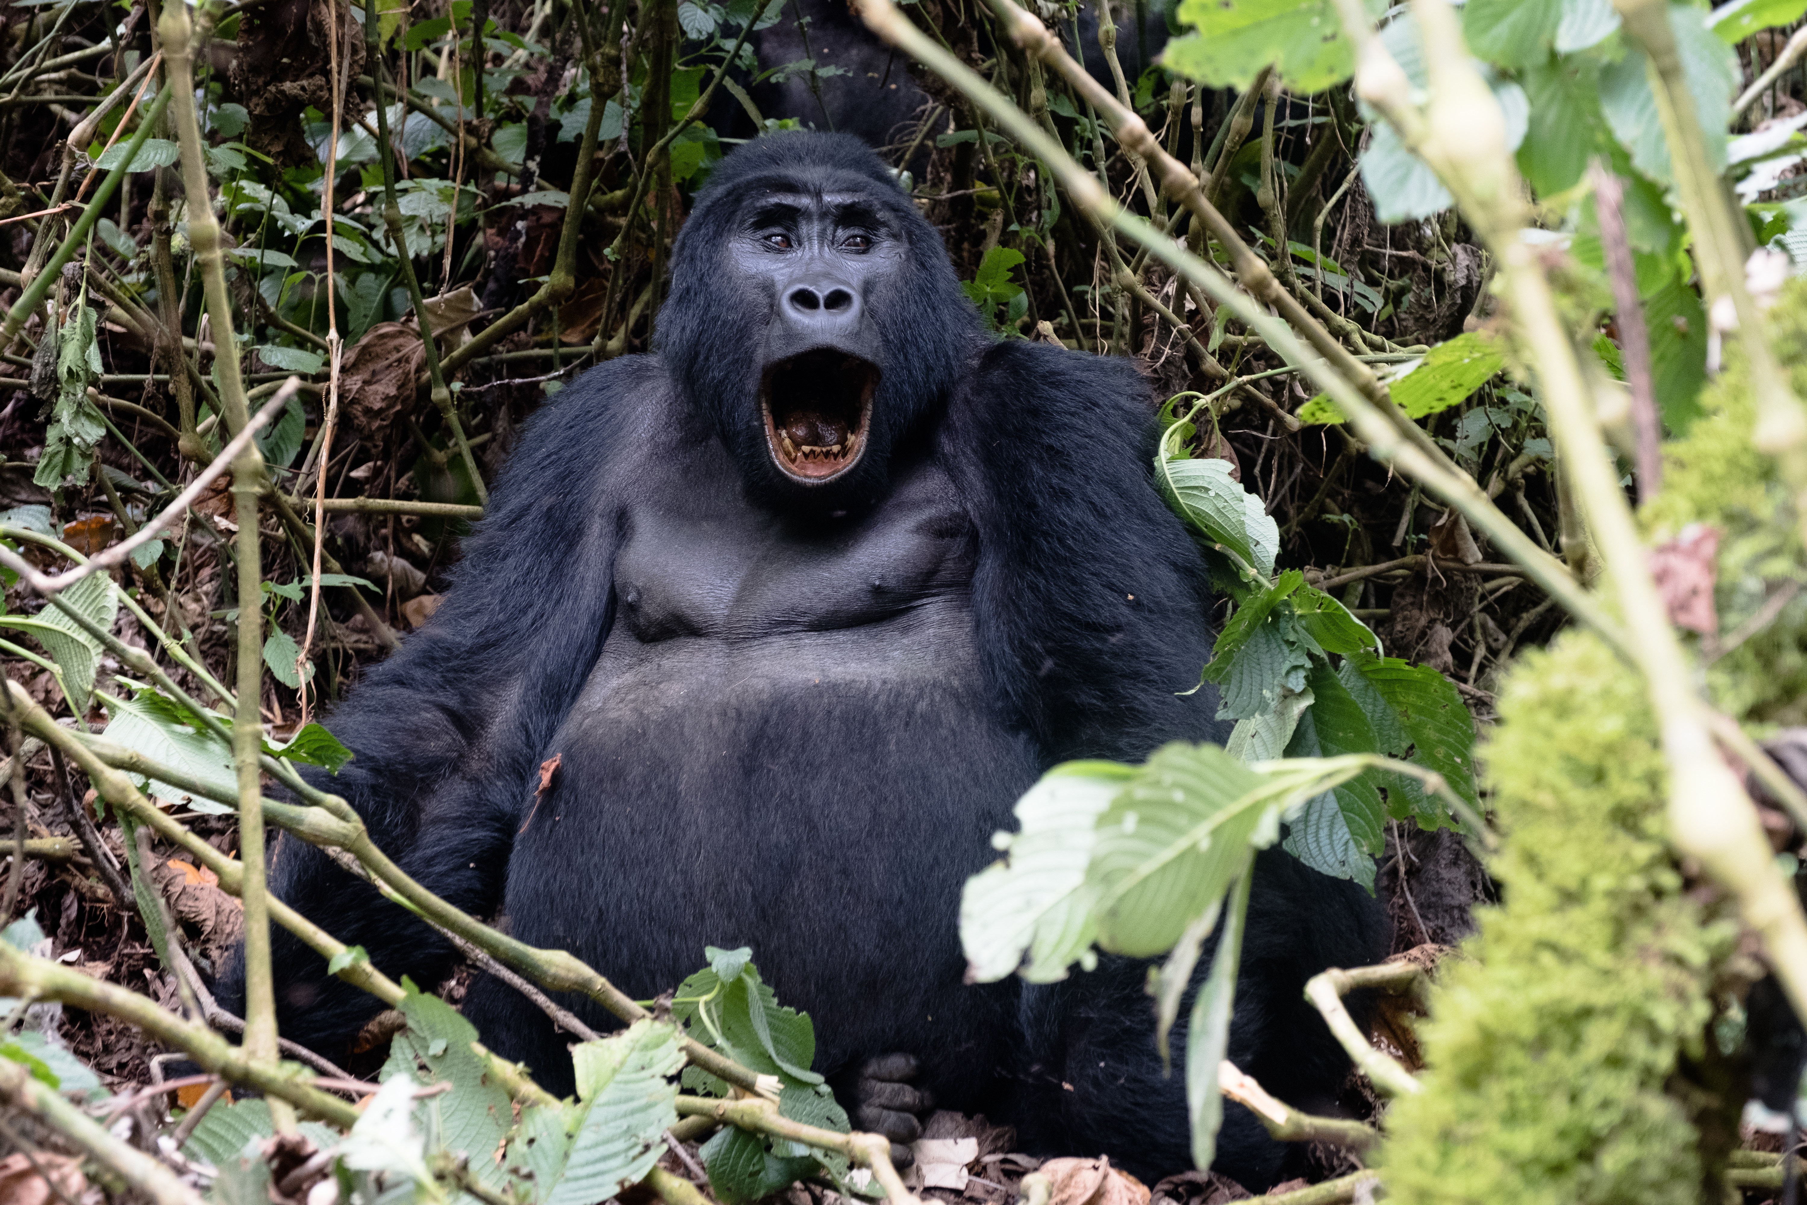
MULTIPOLYGON (((580 1104, 564 1109, 569 1147, 549 1174, 533 1182, 540 1205, 591 1205, 638 1183, 665 1151, 665 1131, 678 1124, 678 1084, 670 1077, 683 1066, 683 1050, 669 1021, 641 1019, 613 1037, 580 1042, 571 1048, 571 1059, 580 1104)), ((504 1093, 504 1115, 506 1098, 504 1093)), ((511 1171, 522 1140, 531 1136, 522 1116, 520 1133, 508 1147, 511 1171)))

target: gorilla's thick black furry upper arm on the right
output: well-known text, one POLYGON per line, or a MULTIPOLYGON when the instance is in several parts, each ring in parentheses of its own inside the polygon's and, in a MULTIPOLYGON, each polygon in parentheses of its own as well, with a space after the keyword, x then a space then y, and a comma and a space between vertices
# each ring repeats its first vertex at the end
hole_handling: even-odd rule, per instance
POLYGON ((985 672, 1048 762, 1140 761, 1222 741, 1205 567, 1149 477, 1155 425, 1135 369, 1012 340, 950 401, 941 455, 979 531, 985 672))

